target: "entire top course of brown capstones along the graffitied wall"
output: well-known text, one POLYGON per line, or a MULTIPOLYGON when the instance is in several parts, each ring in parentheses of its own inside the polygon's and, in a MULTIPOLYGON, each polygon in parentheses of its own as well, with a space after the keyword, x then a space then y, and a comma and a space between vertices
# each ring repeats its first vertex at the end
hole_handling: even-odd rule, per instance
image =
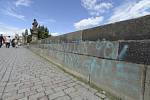
MULTIPOLYGON (((97 40, 142 40, 150 38, 150 15, 51 37, 51 43, 97 40)), ((42 40, 42 43, 49 43, 42 40)))

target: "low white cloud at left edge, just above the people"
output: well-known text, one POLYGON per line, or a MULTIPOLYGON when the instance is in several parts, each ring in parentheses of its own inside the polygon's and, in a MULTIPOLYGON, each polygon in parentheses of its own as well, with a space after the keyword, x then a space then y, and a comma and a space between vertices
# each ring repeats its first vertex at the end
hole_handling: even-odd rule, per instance
POLYGON ((0 34, 14 36, 15 34, 22 34, 25 29, 21 29, 14 26, 6 25, 5 23, 0 22, 0 34))

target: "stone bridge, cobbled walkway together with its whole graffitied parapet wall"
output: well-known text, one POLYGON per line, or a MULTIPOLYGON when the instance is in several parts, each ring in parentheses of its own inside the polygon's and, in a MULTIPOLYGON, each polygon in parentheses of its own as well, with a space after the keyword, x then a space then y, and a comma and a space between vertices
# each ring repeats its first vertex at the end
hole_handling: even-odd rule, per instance
POLYGON ((1 100, 150 100, 150 15, 1 48, 0 64, 1 100))

